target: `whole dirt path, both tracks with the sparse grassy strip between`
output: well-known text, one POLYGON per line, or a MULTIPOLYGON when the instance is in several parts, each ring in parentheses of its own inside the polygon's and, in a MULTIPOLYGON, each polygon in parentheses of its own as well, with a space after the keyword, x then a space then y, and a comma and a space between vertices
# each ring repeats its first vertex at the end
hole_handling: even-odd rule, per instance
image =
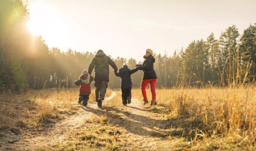
POLYGON ((177 139, 169 136, 170 124, 163 114, 164 107, 143 105, 143 101, 136 98, 128 106, 122 106, 119 100, 119 92, 113 92, 103 101, 102 109, 98 109, 96 102, 81 106, 77 114, 61 120, 43 134, 18 141, 12 148, 44 150, 43 146, 48 146, 48 149, 54 150, 170 150, 175 146, 177 139), (106 118, 106 123, 86 121, 102 116, 106 118), (68 148, 70 145, 73 146, 68 148))

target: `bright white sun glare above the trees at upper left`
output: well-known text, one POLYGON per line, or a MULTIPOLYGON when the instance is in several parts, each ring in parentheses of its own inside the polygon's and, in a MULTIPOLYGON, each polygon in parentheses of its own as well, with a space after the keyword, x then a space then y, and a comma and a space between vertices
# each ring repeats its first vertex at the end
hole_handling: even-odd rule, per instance
POLYGON ((71 24, 73 20, 67 20, 68 15, 47 4, 46 0, 35 0, 29 6, 26 28, 34 36, 42 36, 49 47, 67 49, 70 47, 70 33, 76 33, 71 31, 77 29, 71 24))

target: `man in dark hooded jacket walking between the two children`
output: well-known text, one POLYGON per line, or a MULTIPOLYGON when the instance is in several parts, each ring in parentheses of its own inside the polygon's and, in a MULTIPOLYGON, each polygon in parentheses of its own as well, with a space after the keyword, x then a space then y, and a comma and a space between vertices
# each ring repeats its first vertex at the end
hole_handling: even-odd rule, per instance
POLYGON ((98 50, 88 69, 88 73, 91 74, 93 72, 93 68, 95 67, 95 97, 96 102, 98 103, 98 107, 100 108, 102 107, 102 101, 104 100, 106 89, 108 87, 109 65, 111 65, 111 67, 117 71, 115 62, 113 62, 111 58, 107 56, 102 50, 98 50))

